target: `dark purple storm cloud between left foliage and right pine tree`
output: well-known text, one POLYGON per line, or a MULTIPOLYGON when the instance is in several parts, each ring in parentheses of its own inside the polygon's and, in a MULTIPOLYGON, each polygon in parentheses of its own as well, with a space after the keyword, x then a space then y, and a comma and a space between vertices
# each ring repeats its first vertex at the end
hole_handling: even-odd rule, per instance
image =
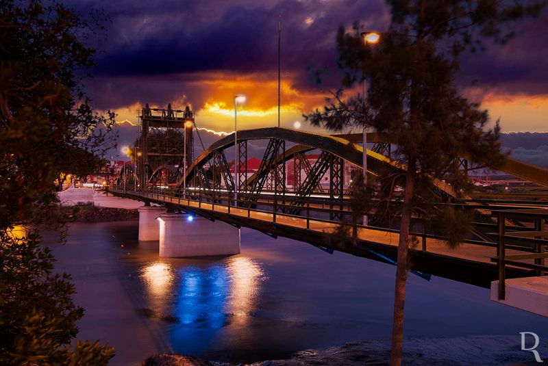
POLYGON ((101 107, 111 101, 114 105, 108 107, 141 99, 173 100, 173 86, 160 83, 178 83, 178 94, 193 93, 188 86, 192 73, 260 73, 274 78, 279 16, 282 72, 297 75, 293 84, 306 92, 317 87, 308 66, 334 69, 339 25, 359 20, 382 29, 388 23, 382 0, 66 2, 82 14, 102 8, 110 16, 106 40, 98 44, 95 80, 90 82, 92 97, 101 107), (160 79, 151 84, 153 77, 160 79))

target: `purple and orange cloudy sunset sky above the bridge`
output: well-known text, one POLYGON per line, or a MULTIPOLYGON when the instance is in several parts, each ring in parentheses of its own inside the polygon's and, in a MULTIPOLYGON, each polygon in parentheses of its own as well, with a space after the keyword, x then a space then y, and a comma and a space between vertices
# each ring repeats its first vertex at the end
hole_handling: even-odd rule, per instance
MULTIPOLYGON (((94 47, 87 82, 99 110, 114 110, 121 143, 134 140, 142 105, 195 111, 198 127, 234 130, 277 124, 277 22, 282 21, 282 127, 314 130, 302 114, 337 88, 335 35, 359 21, 386 29, 381 0, 65 0, 80 14, 102 9, 108 31, 94 47), (312 71, 322 70, 324 82, 312 71)), ((548 11, 515 26, 505 47, 463 55, 461 92, 481 102, 504 132, 548 131, 548 11), (472 83, 473 80, 477 83, 472 83)), ((541 142, 540 146, 543 142, 541 142)), ((548 145, 548 142, 546 142, 548 145)), ((532 146, 521 146, 531 148, 532 146)), ((536 148, 538 146, 534 146, 536 148)), ((548 147, 547 147, 548 148, 548 147)))

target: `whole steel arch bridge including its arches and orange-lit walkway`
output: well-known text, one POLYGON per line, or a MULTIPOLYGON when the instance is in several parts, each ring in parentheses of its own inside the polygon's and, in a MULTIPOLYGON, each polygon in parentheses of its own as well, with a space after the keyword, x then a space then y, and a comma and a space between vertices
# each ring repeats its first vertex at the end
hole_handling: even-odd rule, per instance
MULTIPOLYGON (((358 145, 362 139, 361 134, 321 135, 271 127, 238 131, 237 138, 237 159, 240 168, 237 172, 234 170, 234 178, 231 172, 234 161, 228 161, 225 155, 228 148, 234 147, 232 133, 206 148, 188 165, 186 175, 182 174, 180 169, 175 172, 173 168, 164 166, 149 172, 148 177, 151 177, 151 180, 147 184, 140 184, 138 191, 121 192, 120 189, 113 189, 112 192, 144 202, 155 202, 177 211, 195 213, 210 220, 222 220, 236 227, 250 227, 273 237, 279 235, 306 241, 330 252, 340 250, 388 263, 395 261, 393 242, 387 242, 382 237, 389 236, 390 233, 397 235, 397 231, 391 228, 353 224, 358 230, 357 246, 333 241, 332 235, 336 233, 336 227, 351 216, 348 207, 351 192, 345 190, 343 172, 344 166, 348 164, 356 170, 362 169, 363 148, 358 145), (248 142, 253 140, 264 140, 266 148, 260 167, 248 177, 247 148, 248 142), (286 148, 286 144, 292 146, 286 148), (310 163, 306 158, 306 153, 311 151, 320 152, 314 163, 310 163), (299 173, 305 172, 305 176, 301 177, 302 179, 295 179, 294 184, 288 187, 285 163, 291 159, 294 160, 294 169, 297 170, 295 166, 298 166, 299 173), (325 174, 329 175, 329 187, 325 188, 325 192, 321 192, 323 188, 320 179, 325 174), (153 177, 157 178, 152 180, 153 177)), ((368 134, 368 141, 374 143, 373 148, 366 151, 368 174, 375 176, 386 168, 405 172, 406 166, 390 159, 390 136, 371 133, 368 134)), ((469 156, 466 152, 460 155, 455 157, 458 159, 456 163, 466 169, 469 156)), ((516 177, 548 186, 548 170, 545 168, 507 158, 502 170, 516 177)), ((401 185, 403 186, 403 182, 401 185)), ((516 255, 522 257, 545 255, 548 235, 523 237, 523 234, 520 234, 522 237, 519 239, 516 235, 506 237, 503 234, 503 239, 497 239, 497 230, 500 233, 502 225, 506 231, 533 235, 533 232, 529 233, 531 226, 526 226, 523 222, 530 220, 534 228, 543 227, 548 214, 546 218, 538 218, 543 216, 535 216, 537 212, 527 218, 514 218, 508 215, 501 219, 497 210, 538 209, 547 205, 547 200, 540 202, 540 205, 539 202, 509 204, 500 200, 458 200, 449 185, 436 179, 432 179, 429 188, 440 197, 440 201, 460 202, 460 205, 469 209, 482 211, 489 220, 477 223, 477 231, 485 235, 464 241, 464 246, 471 246, 473 249, 462 255, 449 254, 441 249, 442 246, 438 245, 438 242, 443 238, 427 233, 423 225, 421 233, 413 233, 422 240, 421 249, 413 250, 416 270, 487 286, 490 280, 497 279, 497 264, 491 263, 489 256, 496 257, 500 250, 497 247, 500 241, 506 245, 504 250, 515 250, 518 253, 516 255), (480 250, 476 250, 477 248, 480 250), (477 252, 484 250, 488 254, 482 254, 482 259, 478 259, 477 252), (526 254, 523 254, 524 252, 526 254), (482 275, 478 277, 479 273, 482 275)), ((504 233, 504 230, 502 232, 504 233)), ((527 258, 527 263, 521 263, 521 267, 516 263, 508 265, 507 275, 525 276, 532 272, 548 270, 540 257, 527 258)))

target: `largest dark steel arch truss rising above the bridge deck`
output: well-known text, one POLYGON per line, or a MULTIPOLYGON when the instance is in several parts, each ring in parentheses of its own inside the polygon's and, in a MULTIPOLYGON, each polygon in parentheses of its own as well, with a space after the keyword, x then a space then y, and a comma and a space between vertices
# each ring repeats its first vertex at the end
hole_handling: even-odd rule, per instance
MULTIPOLYGON (((367 173, 376 176, 386 168, 404 172, 406 166, 390 159, 390 144, 381 141, 376 134, 372 137, 375 146, 373 150, 367 150, 367 173), (385 155, 382 154, 383 152, 385 155)), ((238 166, 240 168, 238 168, 238 174, 234 174, 234 178, 230 172, 234 162, 229 163, 224 153, 227 148, 233 146, 234 133, 214 142, 190 164, 186 177, 177 182, 177 187, 180 189, 186 183, 187 187, 220 189, 221 181, 224 181, 229 192, 258 194, 263 192, 265 184, 270 180, 273 181, 271 184, 273 190, 283 193, 288 189, 285 184, 285 163, 295 159, 294 166, 299 167, 295 171, 301 173, 304 170, 307 174, 303 181, 300 177, 295 179, 292 191, 297 196, 310 196, 314 190, 318 189, 323 175, 329 172, 328 192, 332 198, 342 198, 345 183, 343 166, 351 164, 357 169, 362 169, 362 146, 343 136, 270 127, 238 131, 238 166), (268 144, 260 168, 251 177, 247 177, 247 142, 251 140, 268 140, 268 144), (286 142, 293 143, 295 146, 286 149, 286 142), (304 154, 314 150, 321 151, 321 154, 312 166, 304 154), (206 174, 204 167, 209 161, 212 161, 210 170, 212 168, 216 174, 206 174), (219 177, 222 177, 222 180, 219 177)), ((456 197, 456 193, 449 185, 436 179, 432 179, 432 189, 443 198, 456 197)))

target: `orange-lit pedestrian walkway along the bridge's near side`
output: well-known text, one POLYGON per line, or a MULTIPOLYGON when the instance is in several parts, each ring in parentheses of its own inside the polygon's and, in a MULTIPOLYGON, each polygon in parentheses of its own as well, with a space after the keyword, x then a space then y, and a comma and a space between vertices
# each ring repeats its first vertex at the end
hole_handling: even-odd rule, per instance
MULTIPOLYGON (((229 206, 226 203, 201 202, 174 196, 142 192, 112 192, 119 196, 155 202, 159 205, 195 212, 212 219, 223 220, 237 226, 247 226, 269 235, 284 236, 304 241, 321 248, 329 248, 375 259, 395 261, 399 233, 382 228, 358 225, 357 239, 360 246, 340 244, 330 241, 332 233, 340 225, 338 222, 319 218, 273 213, 261 209, 229 206)), ((306 207, 303 208, 306 211, 306 207)), ((457 248, 449 248, 445 241, 433 237, 417 235, 418 245, 411 248, 412 268, 429 274, 459 280, 473 285, 489 287, 497 279, 497 265, 492 258, 497 256, 494 243, 461 243, 457 248), (425 248, 425 250, 423 250, 425 248)), ((529 251, 530 252, 530 251, 529 251)), ((523 254, 521 250, 506 248, 506 254, 523 254)), ((525 260, 534 263, 534 259, 525 260)), ((532 270, 506 265, 508 278, 531 276, 532 270)))

